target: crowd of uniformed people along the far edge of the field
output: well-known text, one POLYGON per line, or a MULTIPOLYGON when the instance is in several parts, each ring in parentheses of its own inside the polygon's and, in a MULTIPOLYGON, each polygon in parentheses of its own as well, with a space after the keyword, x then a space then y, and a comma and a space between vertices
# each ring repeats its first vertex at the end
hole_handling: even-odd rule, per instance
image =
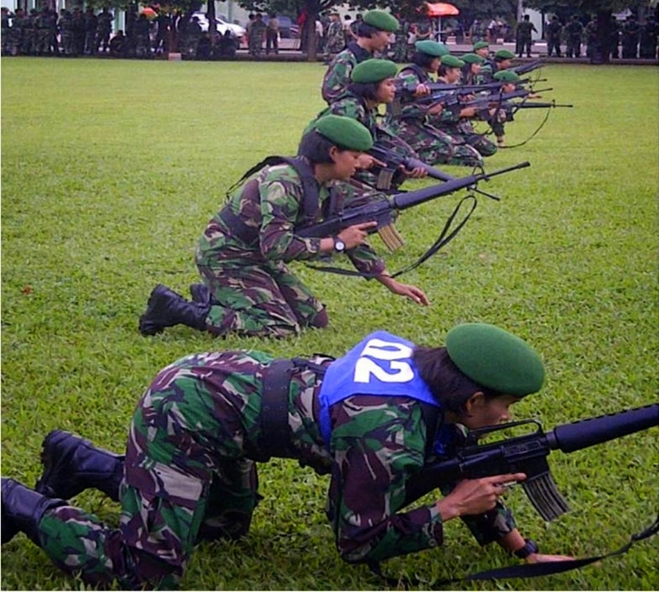
MULTIPOLYGON (((394 35, 386 57, 405 63, 412 55, 414 43, 436 37, 434 23, 421 17, 408 21, 398 16, 400 29, 394 35)), ((192 13, 167 13, 147 10, 143 13, 129 11, 126 29, 113 31, 114 15, 108 8, 95 12, 93 8, 63 9, 60 13, 47 7, 29 12, 10 12, 2 8, 1 50, 3 56, 111 56, 115 58, 153 58, 170 51, 180 52, 184 59, 226 59, 236 56, 236 51, 247 48, 250 55, 258 58, 263 53, 278 54, 279 42, 284 36, 282 21, 286 22, 286 37, 298 38, 296 49, 307 51, 307 31, 310 23, 304 15, 291 24, 289 17, 275 13, 249 15, 244 37, 227 29, 211 39, 208 27, 204 30, 200 17, 192 13)), ((326 63, 339 54, 356 38, 361 14, 353 19, 350 15, 326 12, 315 22, 316 49, 326 63)), ((207 25, 207 22, 206 22, 207 25)), ((504 19, 491 19, 489 23, 474 20, 469 30, 461 25, 447 27, 441 33, 441 41, 448 36, 460 42, 486 40, 490 44, 514 42, 518 56, 530 56, 532 35, 538 34, 528 17, 515 26, 504 19)), ((608 52, 611 58, 656 59, 659 24, 650 14, 644 22, 634 15, 625 21, 612 17, 608 47, 599 47, 598 24, 593 17, 589 21, 573 15, 567 22, 554 16, 546 22, 543 37, 549 57, 593 58, 594 54, 608 52)), ((537 53, 537 52, 536 52, 537 53)))

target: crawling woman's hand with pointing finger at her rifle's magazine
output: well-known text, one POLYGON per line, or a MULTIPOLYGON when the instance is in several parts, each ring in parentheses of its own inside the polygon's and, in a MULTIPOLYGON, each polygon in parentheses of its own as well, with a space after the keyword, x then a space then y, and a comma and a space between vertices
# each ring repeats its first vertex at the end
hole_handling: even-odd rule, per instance
POLYGON ((523 472, 465 479, 459 482, 446 498, 437 502, 437 509, 442 520, 487 512, 494 508, 497 500, 505 493, 506 484, 524 479, 526 475, 523 472))

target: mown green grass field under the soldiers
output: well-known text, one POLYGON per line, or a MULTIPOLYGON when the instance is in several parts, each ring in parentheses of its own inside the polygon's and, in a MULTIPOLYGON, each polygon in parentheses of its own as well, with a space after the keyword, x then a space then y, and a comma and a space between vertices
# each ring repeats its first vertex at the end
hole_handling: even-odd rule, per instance
MULTIPOLYGON (((454 324, 483 321, 527 338, 544 356, 548 381, 516 406, 516 418, 539 418, 546 429, 656 401, 656 68, 546 67, 555 90, 544 99, 574 108, 555 110, 528 144, 490 158, 490 170, 524 160, 532 167, 484 186, 501 202, 479 198, 446 250, 404 277, 432 306, 294 265, 327 304, 331 324, 275 341, 213 340, 183 326, 143 338, 137 321, 156 283, 187 294, 197 281, 197 237, 231 183, 264 156, 294 153, 323 108, 324 68, 39 58, 4 58, 1 66, 2 475, 33 486, 42 438, 54 428, 122 450, 143 389, 184 354, 340 355, 375 329, 439 345, 454 324)), ((519 114, 508 142, 528 138, 543 115, 519 114)), ((401 216, 406 245, 387 255, 392 270, 423 253, 458 197, 401 216)), ((572 511, 544 523, 516 488, 507 500, 523 535, 544 552, 580 557, 625 543, 658 510, 657 435, 552 454, 572 511)), ((292 461, 262 465, 260 475, 265 500, 250 535, 202 544, 185 589, 382 588, 366 567, 336 554, 323 515, 325 478, 292 461)), ((76 502, 117 523, 117 504, 100 493, 76 502)), ((430 580, 512 562, 496 545, 480 550, 453 521, 442 548, 384 569, 430 580)), ((564 575, 454 588, 653 590, 658 564, 654 539, 564 575)), ((24 535, 3 546, 1 568, 2 589, 83 589, 24 535)))

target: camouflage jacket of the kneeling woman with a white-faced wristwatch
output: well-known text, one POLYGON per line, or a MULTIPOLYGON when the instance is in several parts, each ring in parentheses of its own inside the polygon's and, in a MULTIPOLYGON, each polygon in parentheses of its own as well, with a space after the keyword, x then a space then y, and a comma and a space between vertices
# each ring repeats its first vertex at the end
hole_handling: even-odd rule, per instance
MULTIPOLYGON (((320 211, 330 197, 330 188, 337 184, 334 181, 319 186, 320 211)), ((247 244, 231 231, 218 213, 206 226, 197 245, 197 263, 213 268, 229 261, 258 265, 266 261, 287 263, 318 258, 320 238, 302 238, 295 234, 295 227, 302 222, 302 200, 302 180, 291 165, 263 167, 234 190, 227 204, 244 224, 259 229, 258 242, 247 244), (259 183, 258 203, 243 195, 243 189, 252 180, 259 183)), ((384 262, 368 245, 355 247, 347 255, 360 272, 377 274, 384 270, 384 262)))

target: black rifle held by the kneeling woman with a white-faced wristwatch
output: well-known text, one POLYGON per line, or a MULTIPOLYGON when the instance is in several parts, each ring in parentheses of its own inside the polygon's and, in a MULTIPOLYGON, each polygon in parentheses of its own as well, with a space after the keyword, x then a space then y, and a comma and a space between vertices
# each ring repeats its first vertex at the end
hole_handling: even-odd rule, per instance
POLYGON ((382 195, 377 199, 371 199, 366 204, 359 204, 344 208, 342 212, 330 216, 327 220, 312 224, 309 227, 296 229, 295 234, 302 237, 316 237, 324 238, 326 236, 335 236, 344 228, 354 226, 355 224, 363 224, 364 222, 377 222, 373 229, 369 229, 369 233, 373 233, 378 229, 389 227, 389 224, 396 219, 398 212, 418 206, 425 202, 429 202, 436 197, 443 197, 455 191, 465 188, 473 188, 479 181, 487 181, 493 176, 505 174, 517 169, 530 166, 528 161, 519 163, 512 167, 496 170, 490 173, 471 174, 467 176, 457 177, 416 191, 408 191, 396 193, 394 195, 382 195))

